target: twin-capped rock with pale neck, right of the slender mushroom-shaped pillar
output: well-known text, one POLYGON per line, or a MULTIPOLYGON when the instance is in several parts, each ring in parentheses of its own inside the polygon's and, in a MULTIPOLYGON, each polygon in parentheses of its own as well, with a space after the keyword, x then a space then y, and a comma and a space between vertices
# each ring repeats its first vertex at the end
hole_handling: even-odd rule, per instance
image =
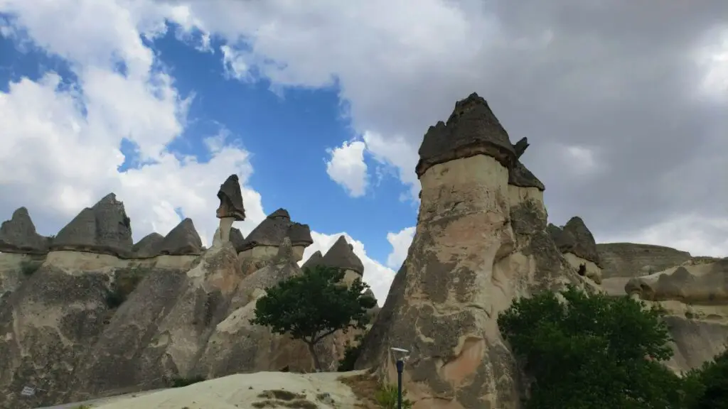
POLYGON ((304 250, 313 243, 308 225, 290 221, 288 210, 278 209, 250 232, 242 244, 240 257, 270 259, 277 255, 278 246, 285 237, 290 238, 296 261, 303 258, 304 250))

